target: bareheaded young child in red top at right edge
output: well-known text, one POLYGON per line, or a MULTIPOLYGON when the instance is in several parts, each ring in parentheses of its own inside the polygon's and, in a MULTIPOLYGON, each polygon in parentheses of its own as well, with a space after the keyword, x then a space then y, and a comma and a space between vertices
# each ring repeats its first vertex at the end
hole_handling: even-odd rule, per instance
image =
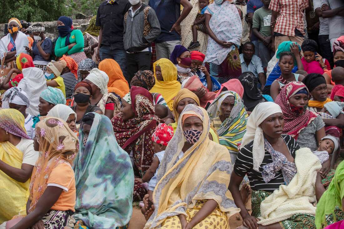
POLYGON ((335 83, 331 91, 333 101, 344 102, 344 68, 335 67, 332 70, 332 81, 335 83))

